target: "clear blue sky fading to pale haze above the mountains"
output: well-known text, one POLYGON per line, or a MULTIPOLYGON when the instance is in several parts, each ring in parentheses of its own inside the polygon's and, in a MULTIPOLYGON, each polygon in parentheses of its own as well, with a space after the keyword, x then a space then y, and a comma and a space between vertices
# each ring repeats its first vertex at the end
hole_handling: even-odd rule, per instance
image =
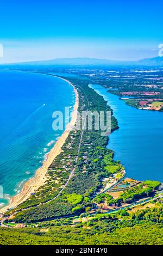
POLYGON ((0 63, 94 57, 158 56, 161 0, 2 0, 0 63))

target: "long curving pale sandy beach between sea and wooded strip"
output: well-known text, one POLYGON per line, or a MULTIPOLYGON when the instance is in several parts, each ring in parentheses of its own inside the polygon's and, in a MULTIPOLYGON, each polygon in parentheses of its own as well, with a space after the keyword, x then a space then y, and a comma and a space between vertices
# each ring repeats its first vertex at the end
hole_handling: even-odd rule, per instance
POLYGON ((24 184, 22 191, 18 193, 16 196, 12 197, 11 202, 7 206, 4 206, 2 209, 0 209, 0 214, 3 214, 5 211, 8 211, 9 208, 16 208, 19 204, 27 200, 30 197, 31 193, 34 193, 40 186, 42 186, 45 183, 48 167, 54 161, 55 157, 57 157, 61 153, 62 145, 64 145, 70 131, 72 130, 73 126, 76 124, 77 110, 79 105, 79 95, 78 95, 77 89, 76 87, 73 86, 73 84, 70 81, 66 80, 65 78, 61 78, 59 76, 54 76, 54 77, 58 77, 66 81, 68 84, 70 84, 73 87, 74 93, 76 94, 76 101, 73 106, 71 121, 66 126, 65 131, 59 137, 58 141, 54 144, 54 147, 48 153, 46 161, 44 161, 43 165, 36 170, 35 176, 29 179, 26 182, 26 184, 24 184))

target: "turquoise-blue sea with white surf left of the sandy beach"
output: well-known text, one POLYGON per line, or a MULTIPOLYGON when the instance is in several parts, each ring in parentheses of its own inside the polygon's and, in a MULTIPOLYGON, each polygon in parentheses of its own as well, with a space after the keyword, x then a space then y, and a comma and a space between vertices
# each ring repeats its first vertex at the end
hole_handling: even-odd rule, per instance
POLYGON ((70 107, 75 94, 60 78, 0 71, 0 185, 2 203, 20 192, 63 131, 52 129, 52 113, 70 107))

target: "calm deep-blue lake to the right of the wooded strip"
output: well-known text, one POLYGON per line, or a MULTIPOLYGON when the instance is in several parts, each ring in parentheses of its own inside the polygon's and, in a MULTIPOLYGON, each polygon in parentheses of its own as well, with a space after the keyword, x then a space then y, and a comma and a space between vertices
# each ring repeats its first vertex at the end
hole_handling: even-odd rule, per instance
POLYGON ((126 105, 99 85, 90 85, 111 106, 120 129, 109 136, 108 148, 115 151, 127 176, 163 182, 163 113, 126 105))

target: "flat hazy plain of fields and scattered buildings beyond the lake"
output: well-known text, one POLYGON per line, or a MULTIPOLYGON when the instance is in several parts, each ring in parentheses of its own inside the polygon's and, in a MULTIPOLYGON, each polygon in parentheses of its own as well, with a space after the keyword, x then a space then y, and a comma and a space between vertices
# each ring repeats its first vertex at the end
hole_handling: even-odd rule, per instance
MULTIPOLYGON (((78 71, 78 74, 82 71, 78 71)), ((84 76, 101 84, 108 92, 120 96, 127 105, 151 111, 163 111, 163 77, 158 68, 118 70, 112 67, 87 69, 84 76)), ((76 71, 73 71, 76 74, 76 71)), ((82 74, 83 75, 83 74, 82 74)))

